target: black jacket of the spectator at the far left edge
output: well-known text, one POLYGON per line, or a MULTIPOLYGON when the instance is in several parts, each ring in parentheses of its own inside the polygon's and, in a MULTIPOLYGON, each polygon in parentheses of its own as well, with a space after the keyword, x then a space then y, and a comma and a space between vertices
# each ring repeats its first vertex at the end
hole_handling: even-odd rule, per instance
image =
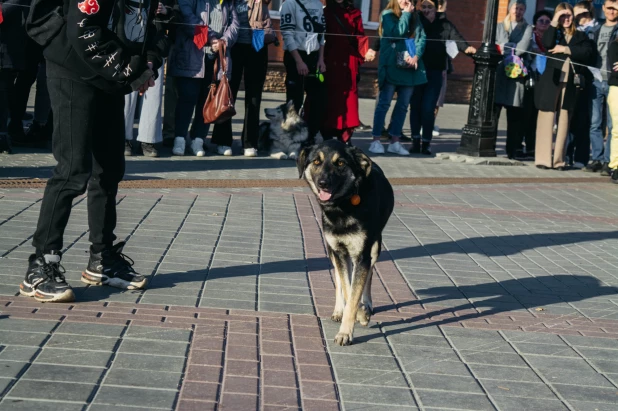
POLYGON ((2 2, 4 21, 0 24, 0 69, 25 70, 27 35, 24 28, 29 0, 2 2))

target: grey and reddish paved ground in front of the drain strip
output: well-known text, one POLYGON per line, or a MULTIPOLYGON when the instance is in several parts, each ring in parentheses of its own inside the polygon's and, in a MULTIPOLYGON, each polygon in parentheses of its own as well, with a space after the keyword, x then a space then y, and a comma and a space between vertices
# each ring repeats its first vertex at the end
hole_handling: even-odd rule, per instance
POLYGON ((0 194, 0 410, 615 410, 618 192, 605 183, 396 187, 369 327, 338 325, 305 189, 122 190, 145 291, 17 295, 42 190, 0 194))

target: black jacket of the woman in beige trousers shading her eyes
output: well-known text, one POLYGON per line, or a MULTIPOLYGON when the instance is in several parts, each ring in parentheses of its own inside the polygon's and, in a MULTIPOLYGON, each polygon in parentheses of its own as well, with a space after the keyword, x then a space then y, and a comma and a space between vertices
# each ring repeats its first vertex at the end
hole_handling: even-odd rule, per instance
POLYGON ((560 94, 560 74, 567 58, 576 63, 569 67, 569 76, 562 104, 562 108, 569 111, 575 108, 577 100, 577 88, 573 82, 573 66, 576 73, 584 74, 588 69, 578 64, 594 66, 597 59, 596 45, 584 32, 576 31, 567 44, 562 31, 550 26, 543 34, 543 46, 545 49, 551 50, 556 45, 568 46, 571 55, 545 53, 547 65, 534 90, 534 103, 536 108, 541 111, 556 111, 556 102, 560 94))

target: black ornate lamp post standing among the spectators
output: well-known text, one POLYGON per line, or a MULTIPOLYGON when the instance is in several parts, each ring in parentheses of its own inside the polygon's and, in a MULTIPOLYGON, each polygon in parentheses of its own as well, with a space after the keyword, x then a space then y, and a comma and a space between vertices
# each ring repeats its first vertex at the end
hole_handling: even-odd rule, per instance
POLYGON ((483 45, 474 58, 474 80, 468 109, 468 123, 461 133, 457 153, 475 157, 495 157, 498 121, 494 100, 496 68, 502 55, 496 49, 498 0, 487 0, 483 45))

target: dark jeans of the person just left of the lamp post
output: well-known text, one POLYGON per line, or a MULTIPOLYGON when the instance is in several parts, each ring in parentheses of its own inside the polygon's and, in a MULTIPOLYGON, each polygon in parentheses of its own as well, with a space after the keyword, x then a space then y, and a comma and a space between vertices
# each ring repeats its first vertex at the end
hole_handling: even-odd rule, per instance
POLYGON ((430 142, 433 136, 433 126, 436 123, 434 115, 440 91, 442 91, 442 70, 427 70, 427 83, 417 86, 412 94, 410 104, 410 128, 412 138, 418 138, 423 128, 423 141, 430 142))

